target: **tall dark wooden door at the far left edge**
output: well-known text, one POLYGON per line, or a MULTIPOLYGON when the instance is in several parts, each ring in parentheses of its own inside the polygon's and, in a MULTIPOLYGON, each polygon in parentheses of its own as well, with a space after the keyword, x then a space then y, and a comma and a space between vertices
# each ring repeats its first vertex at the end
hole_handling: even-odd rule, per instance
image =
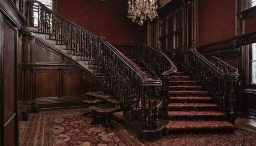
POLYGON ((16 99, 16 29, 1 18, 0 70, 1 70, 1 146, 17 146, 17 99, 16 99))

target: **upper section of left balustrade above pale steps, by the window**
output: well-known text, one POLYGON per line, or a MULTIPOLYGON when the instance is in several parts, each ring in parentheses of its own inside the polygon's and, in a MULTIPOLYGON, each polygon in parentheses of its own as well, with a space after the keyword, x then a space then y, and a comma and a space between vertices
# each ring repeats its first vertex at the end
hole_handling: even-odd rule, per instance
POLYGON ((68 50, 73 50, 73 54, 81 56, 81 60, 99 63, 96 61, 99 60, 99 37, 55 14, 38 1, 30 0, 28 8, 29 26, 38 27, 38 32, 49 34, 49 39, 56 40, 56 44, 65 45, 68 50))

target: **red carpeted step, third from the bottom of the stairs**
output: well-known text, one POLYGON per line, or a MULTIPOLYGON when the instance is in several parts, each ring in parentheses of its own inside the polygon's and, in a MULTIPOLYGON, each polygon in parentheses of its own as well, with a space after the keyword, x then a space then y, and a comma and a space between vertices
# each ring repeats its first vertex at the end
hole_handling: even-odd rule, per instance
POLYGON ((215 111, 216 104, 212 103, 169 103, 168 111, 215 111))

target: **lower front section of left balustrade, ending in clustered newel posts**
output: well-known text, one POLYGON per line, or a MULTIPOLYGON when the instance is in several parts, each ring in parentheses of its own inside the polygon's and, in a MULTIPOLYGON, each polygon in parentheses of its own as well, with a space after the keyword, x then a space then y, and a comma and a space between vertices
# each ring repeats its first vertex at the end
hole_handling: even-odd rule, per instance
POLYGON ((162 80, 148 79, 145 73, 115 49, 102 41, 105 82, 123 100, 124 116, 141 122, 143 129, 157 128, 157 97, 162 80))

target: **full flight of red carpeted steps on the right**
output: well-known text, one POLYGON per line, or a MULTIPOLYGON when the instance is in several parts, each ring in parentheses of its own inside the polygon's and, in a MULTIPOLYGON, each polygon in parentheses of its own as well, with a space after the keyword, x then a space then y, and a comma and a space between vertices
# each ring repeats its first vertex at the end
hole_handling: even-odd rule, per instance
POLYGON ((167 134, 233 132, 233 124, 224 121, 224 113, 217 111, 208 92, 202 91, 188 72, 177 72, 170 77, 169 95, 167 134))

